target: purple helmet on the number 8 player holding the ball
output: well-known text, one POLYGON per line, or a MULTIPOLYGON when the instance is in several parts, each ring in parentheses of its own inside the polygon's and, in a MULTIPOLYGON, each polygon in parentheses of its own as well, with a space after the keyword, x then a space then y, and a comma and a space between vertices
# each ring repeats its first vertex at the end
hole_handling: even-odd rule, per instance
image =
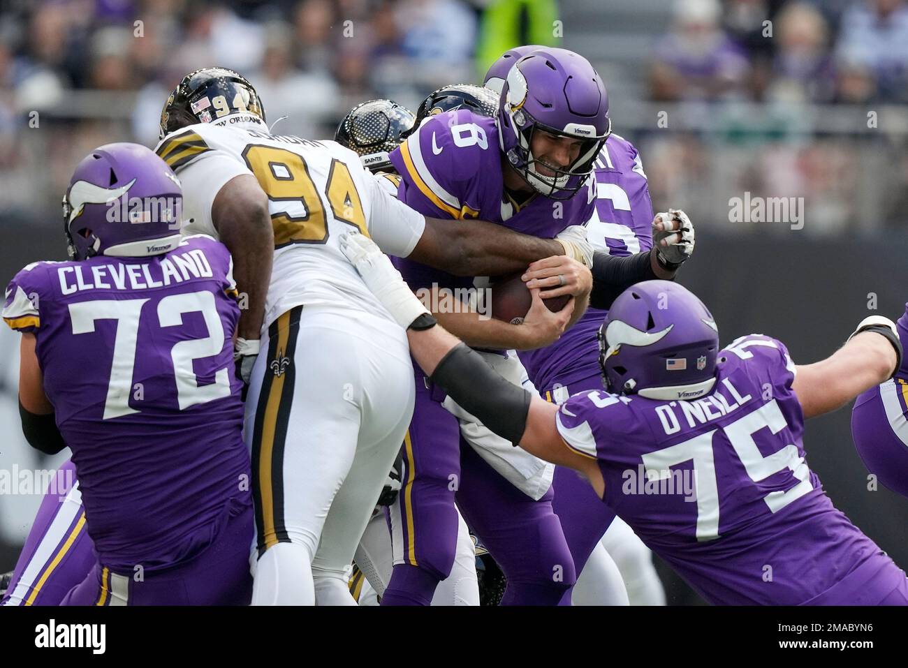
POLYGON ((553 200, 567 200, 584 186, 611 133, 606 87, 586 58, 555 48, 525 55, 508 70, 498 107, 501 151, 526 182, 553 200), (537 131, 581 140, 574 162, 547 164, 552 176, 540 173, 530 151, 537 131))

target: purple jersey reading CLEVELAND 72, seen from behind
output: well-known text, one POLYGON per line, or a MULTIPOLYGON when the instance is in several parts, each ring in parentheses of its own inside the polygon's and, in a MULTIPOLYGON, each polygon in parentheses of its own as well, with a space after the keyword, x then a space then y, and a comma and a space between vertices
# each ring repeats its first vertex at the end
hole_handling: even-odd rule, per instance
POLYGON ((249 497, 231 265, 195 236, 148 258, 35 262, 6 290, 4 319, 35 334, 88 531, 112 569, 191 557, 229 499, 249 497))

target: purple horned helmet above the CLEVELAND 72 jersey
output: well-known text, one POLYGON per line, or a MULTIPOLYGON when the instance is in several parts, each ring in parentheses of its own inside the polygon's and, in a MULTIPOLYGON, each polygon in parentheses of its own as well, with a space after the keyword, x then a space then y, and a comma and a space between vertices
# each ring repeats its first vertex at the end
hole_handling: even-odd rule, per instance
POLYGON ((151 149, 108 143, 73 172, 63 198, 69 256, 143 257, 180 244, 183 189, 151 149))

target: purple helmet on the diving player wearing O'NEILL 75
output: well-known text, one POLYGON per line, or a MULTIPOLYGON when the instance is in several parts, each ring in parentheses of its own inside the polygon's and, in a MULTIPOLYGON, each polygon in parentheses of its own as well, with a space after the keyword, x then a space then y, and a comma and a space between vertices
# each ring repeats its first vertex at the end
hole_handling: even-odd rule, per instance
POLYGON ((598 339, 610 392, 694 399, 716 383, 716 321, 693 292, 670 280, 645 280, 622 292, 598 339))

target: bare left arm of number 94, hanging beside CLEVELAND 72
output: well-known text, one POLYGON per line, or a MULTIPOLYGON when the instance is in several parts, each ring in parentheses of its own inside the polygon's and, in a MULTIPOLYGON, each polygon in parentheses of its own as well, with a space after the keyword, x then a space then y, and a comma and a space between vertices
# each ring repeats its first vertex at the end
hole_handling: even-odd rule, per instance
POLYGON ((212 203, 212 222, 233 258, 233 279, 247 296, 237 336, 259 339, 265 316, 265 295, 271 282, 274 229, 268 196, 252 174, 227 182, 212 203))

